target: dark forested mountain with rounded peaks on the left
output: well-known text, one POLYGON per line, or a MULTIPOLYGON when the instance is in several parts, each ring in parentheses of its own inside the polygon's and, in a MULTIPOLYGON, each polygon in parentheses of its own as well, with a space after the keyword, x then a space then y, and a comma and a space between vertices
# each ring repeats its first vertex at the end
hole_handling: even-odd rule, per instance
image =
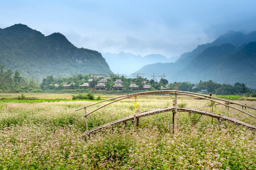
POLYGON ((44 36, 23 24, 0 29, 0 64, 41 80, 47 75, 113 73, 99 52, 76 48, 61 33, 44 36))

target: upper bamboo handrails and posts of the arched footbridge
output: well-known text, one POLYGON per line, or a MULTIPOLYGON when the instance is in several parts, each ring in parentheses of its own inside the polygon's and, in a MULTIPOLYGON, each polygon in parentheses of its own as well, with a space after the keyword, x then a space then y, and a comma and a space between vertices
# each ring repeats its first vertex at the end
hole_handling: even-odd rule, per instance
MULTIPOLYGON (((135 97, 135 96, 140 96, 140 95, 147 95, 147 94, 163 94, 163 93, 168 93, 168 94, 175 94, 175 106, 177 106, 177 94, 181 94, 181 95, 187 95, 187 96, 192 96, 192 97, 197 97, 197 98, 201 98, 201 99, 205 99, 205 100, 210 100, 210 101, 214 101, 216 103, 219 103, 221 105, 224 105, 226 107, 230 107, 230 108, 233 108, 237 111, 240 111, 244 114, 247 114, 251 117, 254 117, 256 118, 256 116, 254 115, 251 115, 247 112, 244 112, 243 110, 240 110, 238 108, 235 108, 235 107, 232 107, 232 106, 229 106, 228 103, 232 103, 232 104, 236 104, 236 105, 239 105, 239 106, 242 106, 242 107, 248 107, 248 108, 251 108, 251 109, 254 109, 256 110, 255 107, 251 107, 251 106, 247 106, 247 105, 243 105, 243 104, 240 104, 240 103, 236 103, 236 102, 233 102, 233 101, 230 101, 230 100, 225 100, 225 99, 220 99, 220 98, 217 98, 217 97, 213 97, 213 96, 208 96, 208 95, 204 95, 204 94, 198 94, 198 93, 193 93, 193 92, 184 92, 184 91, 177 91, 177 86, 175 84, 175 90, 161 90, 161 91, 150 91, 150 92, 139 92, 139 93, 132 93, 132 94, 127 94, 127 95, 123 95, 123 96, 117 96, 117 97, 113 97, 113 98, 110 98, 110 99, 106 99, 106 100, 102 100, 102 101, 99 101, 99 102, 96 102, 96 103, 93 103, 93 104, 90 104, 90 105, 87 105, 87 106, 84 106, 82 108, 79 108, 79 109, 76 109, 75 111, 78 111, 78 110, 81 110, 84 108, 84 112, 85 112, 85 124, 86 124, 86 130, 88 131, 88 123, 87 123, 87 116, 92 114, 93 112, 99 110, 100 108, 102 107, 105 107, 109 104, 112 104, 116 101, 119 101, 119 100, 123 100, 123 99, 127 99, 127 98, 130 98, 130 97, 135 97), (116 100, 114 100, 116 99, 116 100), (212 99, 217 99, 217 100, 221 100, 221 101, 225 101, 227 102, 227 104, 225 103, 221 103, 220 101, 217 101, 217 100, 212 100, 212 99), (91 112, 87 113, 86 112, 86 107, 90 107, 90 106, 93 106, 93 105, 96 105, 96 104, 99 104, 99 103, 102 103, 102 102, 105 102, 105 101, 109 101, 109 100, 114 100, 114 101, 110 101, 108 102, 107 104, 105 105, 102 105, 94 110, 92 110, 91 112)), ((176 121, 177 121, 177 111, 174 111, 173 112, 173 117, 176 116, 176 121), (175 113, 176 112, 176 113, 175 113)), ((135 120, 135 119, 134 119, 135 120)), ((175 118, 173 118, 173 121, 175 121, 175 118)), ((134 122, 135 124, 135 122, 134 122)), ((175 123, 174 123, 175 124, 175 123)))

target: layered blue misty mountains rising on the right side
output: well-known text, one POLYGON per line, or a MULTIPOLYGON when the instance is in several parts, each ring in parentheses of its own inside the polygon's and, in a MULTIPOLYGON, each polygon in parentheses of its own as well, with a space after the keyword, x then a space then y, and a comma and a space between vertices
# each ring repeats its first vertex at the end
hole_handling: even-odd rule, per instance
POLYGON ((165 74, 171 82, 244 82, 248 87, 256 88, 255 41, 256 32, 245 35, 230 31, 212 43, 199 45, 192 52, 184 53, 175 63, 148 64, 134 73, 145 73, 148 79, 152 79, 153 74, 165 74))

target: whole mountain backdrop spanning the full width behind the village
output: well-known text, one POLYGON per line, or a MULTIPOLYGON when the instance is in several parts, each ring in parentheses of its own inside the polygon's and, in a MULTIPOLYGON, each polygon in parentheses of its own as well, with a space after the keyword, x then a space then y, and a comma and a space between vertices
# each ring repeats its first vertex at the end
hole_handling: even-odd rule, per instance
POLYGON ((159 54, 142 57, 124 52, 102 55, 98 51, 76 48, 61 33, 44 36, 23 24, 0 29, 0 64, 5 70, 18 70, 23 77, 35 76, 42 80, 48 75, 139 73, 156 81, 165 78, 169 82, 243 82, 256 88, 255 31, 247 35, 230 31, 179 58, 168 59, 159 54))

